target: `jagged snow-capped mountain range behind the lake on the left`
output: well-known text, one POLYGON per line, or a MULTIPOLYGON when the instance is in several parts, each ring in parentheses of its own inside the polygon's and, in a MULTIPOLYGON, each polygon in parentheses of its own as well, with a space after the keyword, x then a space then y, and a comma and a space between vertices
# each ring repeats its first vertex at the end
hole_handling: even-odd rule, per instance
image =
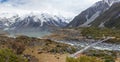
POLYGON ((4 30, 48 30, 51 28, 60 28, 68 24, 70 19, 62 16, 41 14, 12 15, 5 13, 0 16, 0 28, 4 30))

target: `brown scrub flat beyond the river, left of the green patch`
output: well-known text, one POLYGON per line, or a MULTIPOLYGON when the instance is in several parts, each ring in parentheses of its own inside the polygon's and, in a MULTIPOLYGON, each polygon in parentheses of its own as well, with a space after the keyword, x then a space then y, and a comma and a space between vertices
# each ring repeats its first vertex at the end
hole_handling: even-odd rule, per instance
POLYGON ((51 35, 44 36, 55 40, 78 40, 81 38, 80 30, 76 29, 59 29, 54 30, 51 35))

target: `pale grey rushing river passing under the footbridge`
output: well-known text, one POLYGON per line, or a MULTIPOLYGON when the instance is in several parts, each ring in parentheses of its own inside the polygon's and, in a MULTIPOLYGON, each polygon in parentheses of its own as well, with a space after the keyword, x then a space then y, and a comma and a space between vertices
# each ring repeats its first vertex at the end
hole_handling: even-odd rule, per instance
MULTIPOLYGON (((95 43, 94 40, 80 40, 80 41, 57 41, 61 43, 70 44, 72 46, 76 46, 78 48, 84 48, 88 45, 95 43)), ((112 44, 112 43, 99 43, 91 47, 91 49, 99 49, 99 50, 109 50, 109 51, 120 51, 120 44, 112 44)))

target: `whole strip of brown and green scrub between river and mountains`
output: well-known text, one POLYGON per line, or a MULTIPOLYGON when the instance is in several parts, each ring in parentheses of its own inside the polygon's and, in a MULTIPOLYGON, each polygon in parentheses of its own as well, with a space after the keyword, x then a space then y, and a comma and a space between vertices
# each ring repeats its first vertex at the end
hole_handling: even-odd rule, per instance
POLYGON ((98 27, 84 27, 84 28, 67 28, 59 29, 53 32, 53 34, 45 36, 44 38, 51 38, 55 40, 67 40, 67 41, 79 41, 85 38, 103 39, 103 37, 112 37, 108 40, 109 43, 120 43, 120 30, 110 28, 98 28, 98 27))

